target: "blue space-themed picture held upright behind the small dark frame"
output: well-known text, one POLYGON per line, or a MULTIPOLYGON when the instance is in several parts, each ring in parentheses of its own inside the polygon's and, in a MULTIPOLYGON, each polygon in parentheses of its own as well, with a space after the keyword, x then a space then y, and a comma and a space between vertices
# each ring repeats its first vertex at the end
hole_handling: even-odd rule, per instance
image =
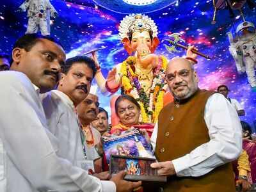
POLYGON ((150 145, 138 129, 123 131, 119 136, 103 137, 102 143, 108 164, 111 155, 155 158, 150 145))

